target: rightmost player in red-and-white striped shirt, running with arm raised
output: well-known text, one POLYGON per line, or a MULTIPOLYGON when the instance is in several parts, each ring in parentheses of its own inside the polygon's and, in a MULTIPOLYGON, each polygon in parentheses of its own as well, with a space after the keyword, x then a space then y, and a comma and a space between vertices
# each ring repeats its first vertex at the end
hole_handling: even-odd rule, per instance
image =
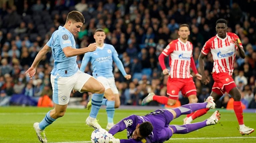
MULTIPOLYGON (((236 51, 239 52, 240 57, 245 57, 242 43, 239 37, 234 33, 227 33, 227 21, 219 19, 216 22, 217 35, 210 38, 204 45, 199 55, 199 67, 201 71, 204 71, 204 57, 211 52, 214 60, 212 76, 214 84, 212 87, 211 95, 215 102, 225 93, 229 93, 234 98, 234 111, 239 123, 240 133, 250 134, 254 131, 252 128, 248 128, 244 125, 243 110, 241 106, 241 94, 236 87, 232 74, 234 70, 234 60, 236 51)), ((208 84, 209 79, 205 73, 202 72, 201 82, 208 84)), ((205 114, 208 109, 201 109, 196 111, 192 116, 187 119, 186 123, 190 123, 193 119, 205 114)))

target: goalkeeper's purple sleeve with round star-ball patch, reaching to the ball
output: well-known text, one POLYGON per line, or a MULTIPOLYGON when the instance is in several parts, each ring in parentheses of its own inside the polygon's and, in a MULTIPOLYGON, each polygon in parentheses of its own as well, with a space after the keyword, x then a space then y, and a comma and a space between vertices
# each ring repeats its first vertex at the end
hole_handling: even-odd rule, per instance
POLYGON ((116 134, 117 132, 121 132, 123 130, 125 130, 126 128, 130 127, 130 128, 136 128, 136 115, 130 115, 124 119, 122 119, 121 121, 119 121, 117 124, 115 124, 108 132, 112 135, 116 134))

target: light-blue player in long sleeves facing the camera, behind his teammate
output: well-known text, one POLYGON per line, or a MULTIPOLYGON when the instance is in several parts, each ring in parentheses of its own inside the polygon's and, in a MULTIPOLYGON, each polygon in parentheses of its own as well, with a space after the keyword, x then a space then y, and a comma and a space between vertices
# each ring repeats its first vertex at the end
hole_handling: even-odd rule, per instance
MULTIPOLYGON (((106 35, 103 29, 97 29, 93 37, 96 41, 97 49, 93 52, 84 54, 80 71, 84 72, 87 63, 90 61, 93 68, 93 77, 98 79, 105 87, 104 96, 106 99, 103 99, 102 105, 106 106, 108 116, 108 124, 106 129, 109 130, 114 125, 113 117, 115 108, 120 106, 119 94, 115 85, 115 78, 112 71, 113 61, 116 63, 118 69, 127 80, 131 78, 131 75, 126 74, 124 66, 121 60, 118 58, 118 54, 113 45, 104 43, 106 35)), ((92 100, 91 105, 94 105, 94 100, 92 100)), ((88 104, 87 108, 91 105, 88 104)))

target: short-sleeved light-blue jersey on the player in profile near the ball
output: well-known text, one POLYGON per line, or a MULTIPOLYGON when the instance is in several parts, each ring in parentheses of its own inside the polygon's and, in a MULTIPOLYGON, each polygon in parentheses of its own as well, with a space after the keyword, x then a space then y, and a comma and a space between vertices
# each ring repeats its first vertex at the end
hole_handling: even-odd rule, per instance
POLYGON ((79 69, 76 63, 76 57, 66 57, 63 48, 72 47, 76 48, 74 36, 64 27, 59 27, 50 40, 46 43, 52 48, 52 56, 54 59, 54 67, 51 74, 59 74, 61 77, 69 77, 74 75, 79 69))

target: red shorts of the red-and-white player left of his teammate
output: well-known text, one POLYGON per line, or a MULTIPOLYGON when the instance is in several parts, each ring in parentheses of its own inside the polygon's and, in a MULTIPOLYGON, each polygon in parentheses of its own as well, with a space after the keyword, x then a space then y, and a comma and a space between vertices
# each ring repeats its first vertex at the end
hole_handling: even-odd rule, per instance
POLYGON ((178 99, 179 91, 185 97, 196 95, 196 86, 192 78, 170 78, 167 81, 167 95, 170 99, 178 99))

